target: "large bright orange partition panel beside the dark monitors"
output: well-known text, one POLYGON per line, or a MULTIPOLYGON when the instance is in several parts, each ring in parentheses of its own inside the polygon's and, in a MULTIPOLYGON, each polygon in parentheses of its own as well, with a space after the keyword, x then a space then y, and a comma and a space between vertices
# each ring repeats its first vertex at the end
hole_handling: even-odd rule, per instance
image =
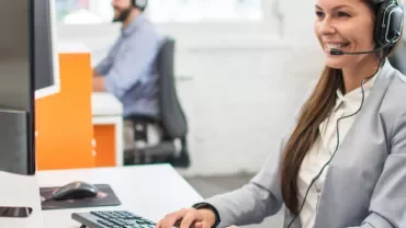
POLYGON ((60 91, 35 101, 38 170, 94 167, 89 53, 59 54, 60 91))

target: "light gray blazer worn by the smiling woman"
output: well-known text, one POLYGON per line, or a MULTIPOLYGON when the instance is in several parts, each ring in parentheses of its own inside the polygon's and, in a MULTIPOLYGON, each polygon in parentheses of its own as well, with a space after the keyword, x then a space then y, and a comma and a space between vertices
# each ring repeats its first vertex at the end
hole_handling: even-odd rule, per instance
MULTIPOLYGON (((258 224, 282 208, 280 158, 294 125, 248 184, 205 200, 219 227, 258 224)), ((292 219, 285 209, 283 227, 292 219)), ((291 228, 300 227, 297 217, 291 228)), ((329 166, 314 226, 357 227, 406 227, 406 77, 387 60, 329 166)))

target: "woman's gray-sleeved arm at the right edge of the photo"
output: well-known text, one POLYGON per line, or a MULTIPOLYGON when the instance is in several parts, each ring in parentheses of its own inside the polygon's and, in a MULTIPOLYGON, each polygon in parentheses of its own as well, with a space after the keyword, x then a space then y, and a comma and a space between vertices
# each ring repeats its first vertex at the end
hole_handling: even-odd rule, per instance
POLYGON ((360 228, 406 227, 406 113, 395 126, 391 155, 372 194, 370 215, 360 228))

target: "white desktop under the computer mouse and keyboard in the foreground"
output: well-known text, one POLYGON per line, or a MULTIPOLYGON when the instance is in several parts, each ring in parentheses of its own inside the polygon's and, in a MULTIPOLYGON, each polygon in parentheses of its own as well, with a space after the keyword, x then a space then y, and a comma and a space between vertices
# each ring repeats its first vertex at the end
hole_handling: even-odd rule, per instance
POLYGON ((78 180, 108 183, 122 202, 115 207, 43 210, 43 228, 79 228, 80 224, 70 218, 71 213, 99 209, 125 209, 158 220, 170 212, 202 201, 189 183, 167 164, 41 171, 37 174, 42 187, 60 186, 78 180))

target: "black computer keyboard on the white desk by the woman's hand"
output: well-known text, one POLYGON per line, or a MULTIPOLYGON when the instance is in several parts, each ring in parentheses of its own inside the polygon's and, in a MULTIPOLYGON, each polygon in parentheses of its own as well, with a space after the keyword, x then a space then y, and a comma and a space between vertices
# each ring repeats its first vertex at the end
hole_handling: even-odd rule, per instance
POLYGON ((81 228, 154 228, 156 223, 126 210, 74 213, 81 228))

